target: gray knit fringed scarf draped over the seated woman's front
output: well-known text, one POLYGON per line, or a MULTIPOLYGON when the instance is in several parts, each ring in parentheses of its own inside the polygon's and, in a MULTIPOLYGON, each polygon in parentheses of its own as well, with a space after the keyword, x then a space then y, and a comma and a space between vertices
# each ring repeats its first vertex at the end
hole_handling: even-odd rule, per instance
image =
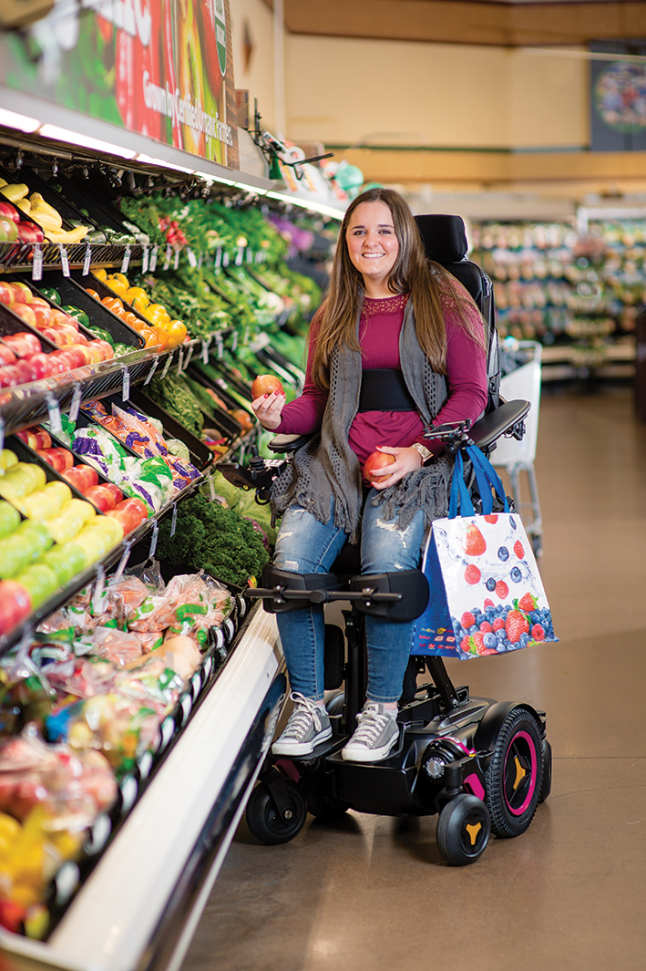
MULTIPOLYGON (((357 334, 359 319, 357 319, 357 334)), ((412 303, 408 301, 400 333, 400 361, 404 382, 426 426, 447 398, 446 381, 436 374, 415 333, 412 303)), ((272 512, 277 519, 298 503, 320 522, 330 519, 334 499, 334 524, 348 533, 350 542, 359 536, 363 505, 361 465, 348 445, 350 425, 359 410, 361 352, 335 348, 330 368, 330 394, 320 433, 303 446, 272 488, 272 512)), ((384 519, 405 529, 418 509, 425 524, 446 516, 453 460, 442 456, 430 465, 409 472, 396 485, 379 491, 371 500, 383 506, 384 519)))

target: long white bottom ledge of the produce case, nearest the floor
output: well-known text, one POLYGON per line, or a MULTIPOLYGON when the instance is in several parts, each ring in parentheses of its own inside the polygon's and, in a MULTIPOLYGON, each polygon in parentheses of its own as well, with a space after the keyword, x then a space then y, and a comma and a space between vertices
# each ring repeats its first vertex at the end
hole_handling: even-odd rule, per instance
MULTIPOLYGON (((48 940, 0 931, 7 971, 178 967, 269 749, 285 686, 275 618, 254 605, 48 940)), ((66 879, 61 873, 61 892, 66 879)))

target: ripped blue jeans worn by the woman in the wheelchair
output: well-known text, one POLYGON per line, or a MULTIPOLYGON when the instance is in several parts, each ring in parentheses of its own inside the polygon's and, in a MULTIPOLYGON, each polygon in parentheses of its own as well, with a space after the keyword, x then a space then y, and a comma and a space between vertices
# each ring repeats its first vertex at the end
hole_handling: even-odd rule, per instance
MULTIPOLYGON (((384 520, 371 506, 371 489, 364 508, 361 536, 361 572, 414 570, 424 540, 424 513, 417 511, 404 530, 384 520)), ((275 544, 275 566, 294 573, 327 573, 347 539, 334 525, 334 517, 319 522, 303 507, 291 506, 282 518, 275 544)), ((276 614, 282 650, 293 691, 308 698, 323 697, 323 607, 276 614)), ((368 699, 398 701, 412 644, 415 621, 366 617, 368 644, 368 699)))

